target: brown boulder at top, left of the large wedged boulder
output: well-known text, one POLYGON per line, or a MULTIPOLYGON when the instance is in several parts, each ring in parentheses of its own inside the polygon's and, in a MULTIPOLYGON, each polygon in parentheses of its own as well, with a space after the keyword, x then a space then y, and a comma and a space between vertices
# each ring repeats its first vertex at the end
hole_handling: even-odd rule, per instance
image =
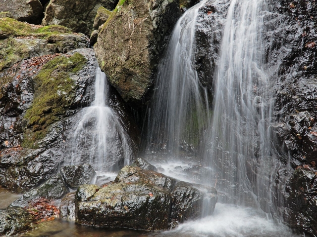
POLYGON ((62 25, 90 35, 99 7, 112 10, 118 0, 51 0, 46 7, 43 25, 62 25))

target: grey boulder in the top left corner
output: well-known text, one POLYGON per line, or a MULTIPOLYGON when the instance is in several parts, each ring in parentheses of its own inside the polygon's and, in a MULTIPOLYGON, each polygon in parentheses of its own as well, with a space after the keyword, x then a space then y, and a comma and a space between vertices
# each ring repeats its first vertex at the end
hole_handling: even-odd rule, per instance
POLYGON ((14 19, 40 24, 43 6, 39 0, 0 0, 0 11, 10 12, 14 19))

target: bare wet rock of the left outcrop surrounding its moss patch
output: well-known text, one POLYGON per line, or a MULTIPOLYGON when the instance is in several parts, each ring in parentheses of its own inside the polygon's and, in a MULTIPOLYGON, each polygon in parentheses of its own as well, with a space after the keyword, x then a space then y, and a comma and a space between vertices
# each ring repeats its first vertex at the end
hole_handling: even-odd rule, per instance
POLYGON ((64 112, 42 130, 34 131, 34 125, 27 126, 25 119, 36 92, 34 79, 47 62, 63 55, 24 60, 1 72, 2 77, 7 80, 1 81, 0 183, 10 190, 27 191, 57 172, 58 163, 64 153, 64 139, 74 120, 73 116, 76 115, 78 106, 87 105, 92 97, 91 86, 96 69, 94 52, 83 48, 68 54, 73 55, 76 52, 83 55, 87 62, 82 70, 70 75, 76 85, 73 99, 64 112), (41 131, 44 136, 36 136, 41 131))

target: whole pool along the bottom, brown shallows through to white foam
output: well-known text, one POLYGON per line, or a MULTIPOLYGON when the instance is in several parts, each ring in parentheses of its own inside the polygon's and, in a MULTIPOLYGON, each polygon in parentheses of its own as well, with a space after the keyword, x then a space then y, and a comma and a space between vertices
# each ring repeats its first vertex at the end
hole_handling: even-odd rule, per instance
POLYGON ((64 220, 42 223, 20 237, 300 237, 253 208, 217 203, 214 213, 163 232, 82 226, 64 220))

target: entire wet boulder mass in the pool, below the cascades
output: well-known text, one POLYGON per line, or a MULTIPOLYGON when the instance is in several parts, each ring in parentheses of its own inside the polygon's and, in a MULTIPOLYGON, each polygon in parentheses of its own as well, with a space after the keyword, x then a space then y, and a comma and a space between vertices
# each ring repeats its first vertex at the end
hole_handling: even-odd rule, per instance
POLYGON ((112 183, 80 186, 75 215, 78 223, 92 226, 166 230, 200 217, 204 203, 210 204, 206 214, 211 214, 216 201, 214 188, 125 166, 112 183))

